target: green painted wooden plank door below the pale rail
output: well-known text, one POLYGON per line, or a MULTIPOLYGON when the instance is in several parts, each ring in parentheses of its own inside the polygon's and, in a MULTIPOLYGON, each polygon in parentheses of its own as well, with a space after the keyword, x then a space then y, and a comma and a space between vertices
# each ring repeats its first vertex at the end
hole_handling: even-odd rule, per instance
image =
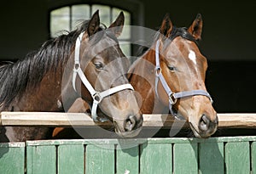
POLYGON ((256 174, 256 137, 0 143, 0 174, 23 173, 256 174))

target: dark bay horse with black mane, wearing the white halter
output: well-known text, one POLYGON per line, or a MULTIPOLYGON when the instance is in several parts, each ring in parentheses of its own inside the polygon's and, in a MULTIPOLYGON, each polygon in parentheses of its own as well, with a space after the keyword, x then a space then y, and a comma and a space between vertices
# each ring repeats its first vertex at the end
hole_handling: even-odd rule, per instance
MULTIPOLYGON (((61 35, 13 64, 0 67, 0 111, 64 111, 77 98, 90 106, 95 121, 97 106, 113 122, 119 136, 134 137, 143 117, 125 73, 129 61, 119 48, 117 36, 124 14, 108 29, 100 26, 99 12, 77 30, 61 35), (63 97, 64 96, 64 97, 63 97)), ((46 127, 0 127, 0 141, 42 139, 46 127)))

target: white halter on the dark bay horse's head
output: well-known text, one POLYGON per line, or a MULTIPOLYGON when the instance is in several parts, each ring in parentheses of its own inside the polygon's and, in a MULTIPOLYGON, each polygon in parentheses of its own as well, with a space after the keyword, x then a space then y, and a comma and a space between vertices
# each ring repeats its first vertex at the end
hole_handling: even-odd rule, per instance
POLYGON ((75 90, 75 92, 77 92, 76 90, 76 77, 77 75, 79 76, 80 80, 83 82, 84 86, 88 89, 92 99, 93 99, 93 103, 92 103, 92 107, 91 107, 91 117, 93 119, 93 121, 108 121, 107 118, 102 118, 102 117, 98 117, 98 115, 96 114, 96 110, 97 110, 97 106, 99 103, 101 103, 103 98, 106 98, 108 96, 110 96, 113 93, 117 93, 119 91, 123 91, 125 89, 131 89, 134 90, 133 87, 131 86, 130 83, 127 84, 123 84, 123 85, 119 85, 117 87, 112 87, 109 88, 106 91, 103 92, 97 92, 94 87, 91 86, 90 81, 88 81, 88 79, 86 78, 86 76, 84 75, 83 70, 81 69, 81 65, 80 65, 80 60, 79 60, 79 54, 80 54, 80 43, 82 41, 82 37, 84 35, 84 32, 82 32, 76 41, 76 45, 75 45, 75 53, 74 53, 74 67, 73 67, 73 89, 75 90))

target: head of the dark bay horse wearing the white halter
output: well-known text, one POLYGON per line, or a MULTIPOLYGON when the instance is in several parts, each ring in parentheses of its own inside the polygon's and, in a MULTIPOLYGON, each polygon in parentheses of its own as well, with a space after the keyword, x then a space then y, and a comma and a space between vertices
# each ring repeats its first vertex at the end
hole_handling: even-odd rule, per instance
POLYGON ((94 121, 106 120, 97 114, 99 106, 119 136, 134 137, 142 129, 143 116, 126 78, 129 61, 117 40, 124 20, 121 12, 108 29, 103 28, 96 11, 84 25, 74 48, 73 89, 90 105, 94 121))

